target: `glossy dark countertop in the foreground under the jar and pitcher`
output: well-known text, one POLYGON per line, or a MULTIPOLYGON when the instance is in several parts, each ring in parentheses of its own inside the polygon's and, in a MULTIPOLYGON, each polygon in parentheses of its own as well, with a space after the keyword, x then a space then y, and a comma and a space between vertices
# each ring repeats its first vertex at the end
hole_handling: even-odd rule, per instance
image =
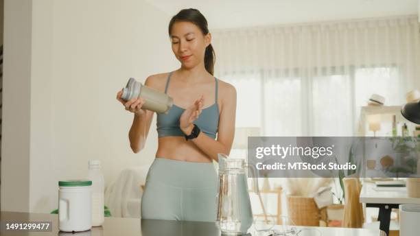
MULTIPOLYGON (((16 233, 1 231, 1 235, 73 235, 73 236, 218 236, 220 231, 215 223, 211 222, 179 222, 172 220, 140 220, 139 218, 121 218, 105 217, 103 226, 93 227, 90 231, 80 233, 65 233, 58 231, 58 215, 43 213, 17 213, 1 211, 0 221, 5 222, 52 222, 51 232, 30 232, 16 233)), ((290 226, 275 226, 275 229, 281 230, 290 228, 290 226)), ((303 227, 296 227, 298 230, 303 227)), ((333 235, 351 235, 351 236, 381 236, 379 230, 361 229, 361 228, 325 228, 325 227, 305 227, 309 230, 302 231, 300 236, 333 236, 333 235)), ((268 235, 268 233, 255 232, 253 228, 247 235, 268 235)), ((382 234, 383 235, 383 234, 382 234)))

